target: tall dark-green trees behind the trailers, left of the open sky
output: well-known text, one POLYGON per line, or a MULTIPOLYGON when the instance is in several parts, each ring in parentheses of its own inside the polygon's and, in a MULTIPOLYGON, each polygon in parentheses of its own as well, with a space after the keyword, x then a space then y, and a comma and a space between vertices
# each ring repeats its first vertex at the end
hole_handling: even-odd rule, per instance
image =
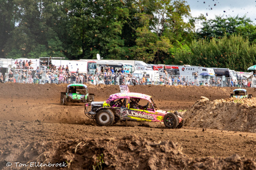
POLYGON ((2 1, 0 15, 9 22, 0 20, 1 57, 95 59, 100 53, 104 59, 158 63, 170 57, 171 47, 191 42, 185 1, 2 1))

